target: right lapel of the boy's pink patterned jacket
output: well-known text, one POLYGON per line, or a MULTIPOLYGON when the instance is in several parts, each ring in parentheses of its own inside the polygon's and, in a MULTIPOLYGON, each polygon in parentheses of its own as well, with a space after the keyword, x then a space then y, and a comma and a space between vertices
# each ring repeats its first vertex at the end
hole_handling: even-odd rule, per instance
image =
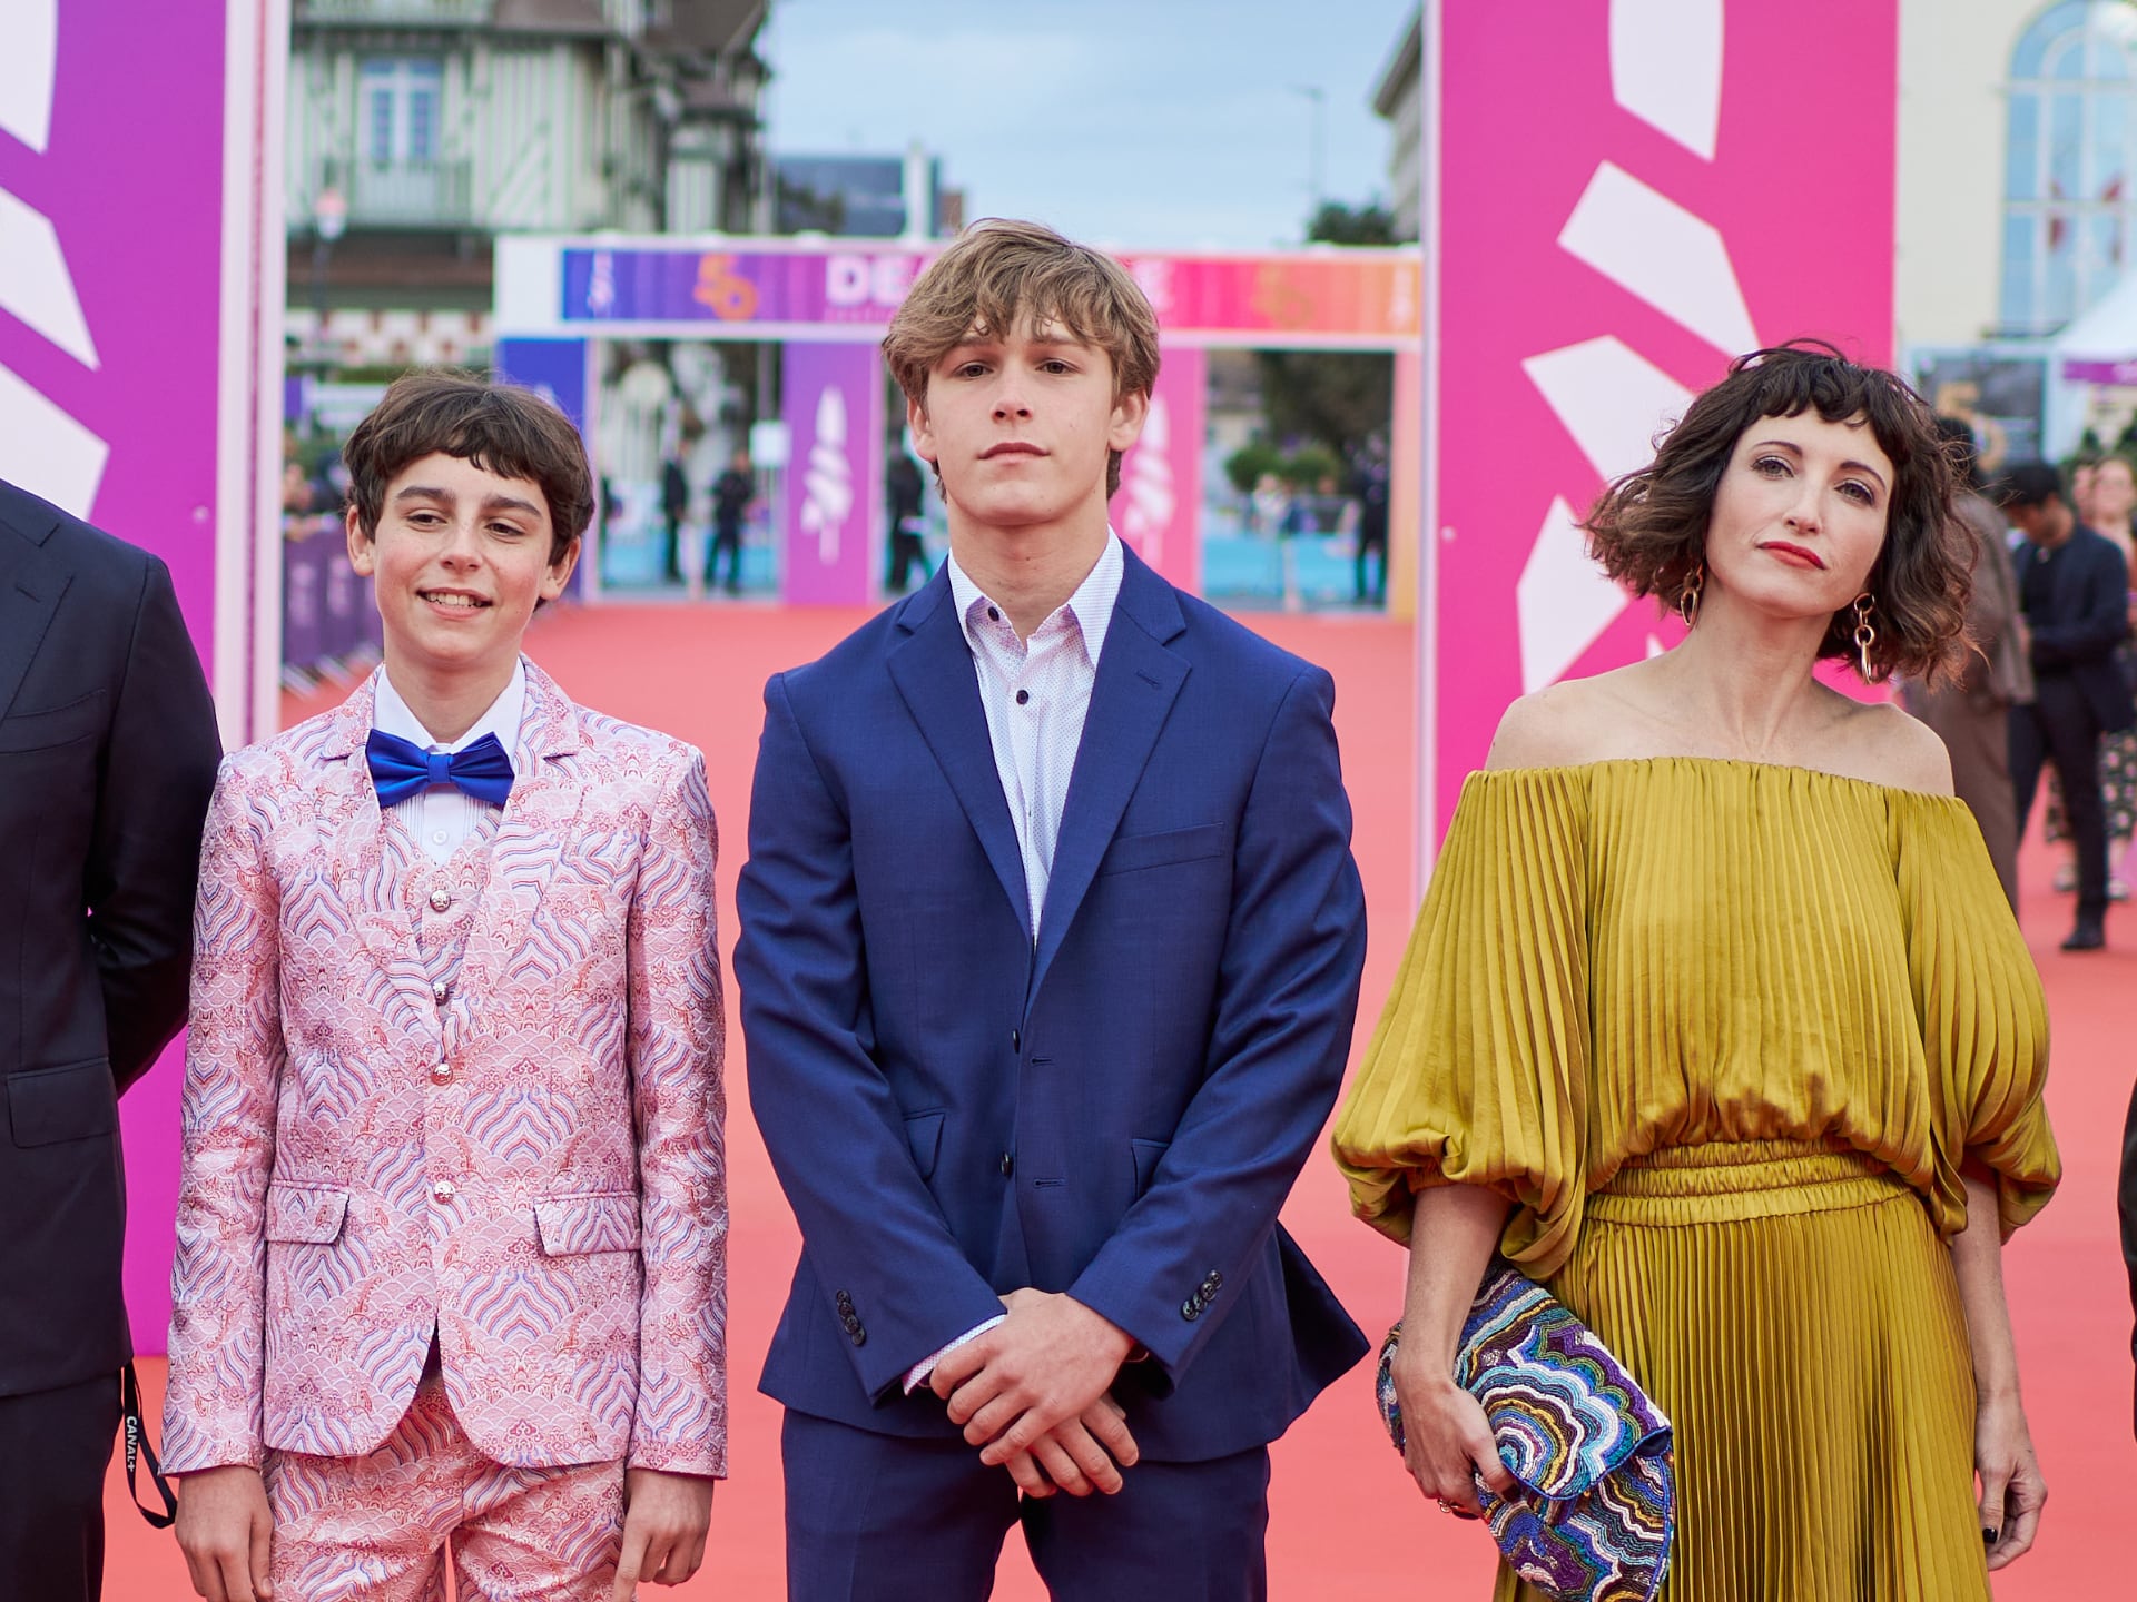
POLYGON ((579 709, 532 662, 526 675, 513 792, 489 839, 489 882, 464 957, 459 989, 477 1004, 496 995, 500 972, 528 944, 543 889, 556 876, 586 799, 586 784, 571 763, 588 745, 579 709))

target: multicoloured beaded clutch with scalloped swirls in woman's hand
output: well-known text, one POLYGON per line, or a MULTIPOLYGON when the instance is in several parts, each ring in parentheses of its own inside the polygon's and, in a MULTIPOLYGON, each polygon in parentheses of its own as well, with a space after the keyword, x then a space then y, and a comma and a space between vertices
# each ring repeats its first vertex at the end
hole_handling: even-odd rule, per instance
MULTIPOLYGON (((1381 1416, 1402 1450, 1395 1348, 1381 1416)), ((1517 1489, 1479 1487, 1507 1564, 1560 1602, 1652 1602, 1678 1534, 1669 1420, 1616 1356, 1534 1279, 1492 1265, 1462 1324, 1455 1382, 1483 1403, 1517 1489)))

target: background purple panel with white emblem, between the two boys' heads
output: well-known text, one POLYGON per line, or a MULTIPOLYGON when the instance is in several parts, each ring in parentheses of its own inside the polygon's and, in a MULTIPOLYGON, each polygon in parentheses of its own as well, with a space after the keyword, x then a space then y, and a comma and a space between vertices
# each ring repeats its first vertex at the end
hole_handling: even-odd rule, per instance
POLYGON ((883 361, 868 344, 789 344, 782 594, 797 607, 863 607, 883 545, 883 361))

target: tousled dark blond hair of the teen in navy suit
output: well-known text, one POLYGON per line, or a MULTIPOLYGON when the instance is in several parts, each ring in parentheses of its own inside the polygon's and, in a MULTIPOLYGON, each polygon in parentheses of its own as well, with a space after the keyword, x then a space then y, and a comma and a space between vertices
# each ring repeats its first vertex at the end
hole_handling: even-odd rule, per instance
MULTIPOLYGON (((981 218, 912 284, 883 359, 927 410, 927 374, 974 333, 1009 333, 1017 320, 1058 323, 1071 340, 1105 350, 1113 399, 1150 395, 1158 380, 1158 318, 1128 269, 1039 222, 981 218)), ((1107 453, 1105 493, 1120 489, 1120 451, 1107 453)))

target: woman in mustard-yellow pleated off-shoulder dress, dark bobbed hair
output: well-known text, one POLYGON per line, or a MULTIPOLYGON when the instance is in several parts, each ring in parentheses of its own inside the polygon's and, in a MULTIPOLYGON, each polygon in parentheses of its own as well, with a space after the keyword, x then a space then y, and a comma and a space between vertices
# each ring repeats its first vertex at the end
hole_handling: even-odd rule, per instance
POLYGON ((1336 1126, 1410 1245, 1423 1493, 1511 1485, 1451 1378, 1498 1252, 1675 1425, 1671 1602, 1985 1600, 2047 1495, 2000 1277, 2058 1179, 2039 976, 1936 735, 1812 677, 1955 666, 1949 491, 1913 391, 1799 346, 1605 491, 1690 632, 1507 711, 1336 1126))

